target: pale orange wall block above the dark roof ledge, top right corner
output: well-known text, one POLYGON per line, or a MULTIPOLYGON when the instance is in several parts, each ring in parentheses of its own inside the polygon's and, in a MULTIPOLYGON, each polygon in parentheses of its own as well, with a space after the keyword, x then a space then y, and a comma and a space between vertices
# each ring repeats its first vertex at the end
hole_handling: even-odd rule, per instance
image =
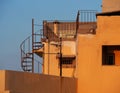
POLYGON ((120 10, 120 0, 102 0, 102 11, 118 11, 120 10))

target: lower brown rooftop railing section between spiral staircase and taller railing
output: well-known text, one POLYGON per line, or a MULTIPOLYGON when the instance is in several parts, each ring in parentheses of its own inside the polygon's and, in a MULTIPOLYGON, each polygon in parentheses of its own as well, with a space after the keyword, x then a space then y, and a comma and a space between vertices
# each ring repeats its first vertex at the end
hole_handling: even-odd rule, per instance
POLYGON ((44 22, 44 36, 50 41, 59 41, 59 38, 74 38, 76 34, 75 21, 53 21, 44 22), (56 32, 55 32, 56 29, 56 32))

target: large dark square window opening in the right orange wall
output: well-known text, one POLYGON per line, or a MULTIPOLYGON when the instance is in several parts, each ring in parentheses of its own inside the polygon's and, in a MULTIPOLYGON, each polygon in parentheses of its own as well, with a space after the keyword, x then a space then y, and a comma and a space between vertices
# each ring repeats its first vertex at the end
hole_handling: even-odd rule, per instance
POLYGON ((102 46, 102 65, 120 65, 120 45, 102 46))

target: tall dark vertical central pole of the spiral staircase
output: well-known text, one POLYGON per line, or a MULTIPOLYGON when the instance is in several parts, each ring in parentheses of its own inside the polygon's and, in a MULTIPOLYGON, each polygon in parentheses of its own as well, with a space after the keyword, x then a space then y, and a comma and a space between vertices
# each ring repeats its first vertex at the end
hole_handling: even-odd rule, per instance
POLYGON ((34 19, 32 19, 32 73, 34 73, 34 19))

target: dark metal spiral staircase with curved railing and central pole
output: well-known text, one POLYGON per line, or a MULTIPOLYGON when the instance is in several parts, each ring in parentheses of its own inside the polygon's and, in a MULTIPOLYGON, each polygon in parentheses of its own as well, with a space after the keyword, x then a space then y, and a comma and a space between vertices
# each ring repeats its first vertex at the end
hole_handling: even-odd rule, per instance
POLYGON ((21 50, 21 67, 23 71, 34 73, 35 62, 42 65, 42 62, 35 59, 35 51, 41 49, 43 44, 40 42, 43 36, 43 30, 41 25, 34 24, 32 19, 32 35, 28 36, 20 45, 21 50), (39 26, 39 29, 35 31, 35 26, 39 26))

